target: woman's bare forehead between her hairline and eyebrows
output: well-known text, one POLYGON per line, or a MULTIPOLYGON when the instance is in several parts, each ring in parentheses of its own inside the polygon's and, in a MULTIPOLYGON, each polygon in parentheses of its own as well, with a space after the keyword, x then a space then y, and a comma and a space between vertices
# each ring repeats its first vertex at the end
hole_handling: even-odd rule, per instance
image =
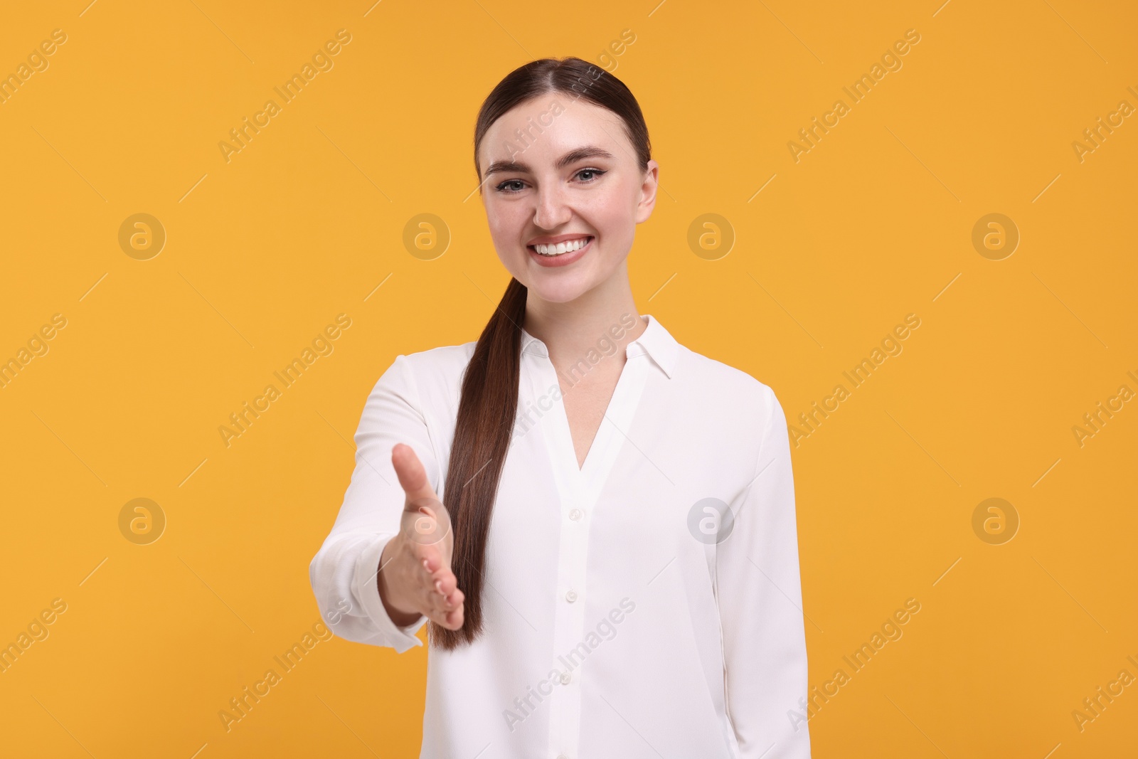
POLYGON ((492 163, 511 159, 535 166, 552 164, 586 145, 604 148, 618 160, 632 156, 620 116, 574 99, 571 93, 547 92, 518 104, 494 122, 478 147, 478 157, 483 171, 492 163))

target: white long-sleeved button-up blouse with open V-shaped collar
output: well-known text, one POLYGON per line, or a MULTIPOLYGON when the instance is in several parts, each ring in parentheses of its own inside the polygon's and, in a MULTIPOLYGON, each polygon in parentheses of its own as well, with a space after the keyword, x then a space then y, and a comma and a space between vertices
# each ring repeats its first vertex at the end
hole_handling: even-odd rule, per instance
MULTIPOLYGON (((430 647, 421 758, 810 756, 794 717, 806 634, 782 406, 645 321, 580 469, 546 346, 522 331, 485 632, 430 647)), ((368 397, 352 481, 310 567, 340 637, 421 645, 426 619, 396 627, 376 581, 404 505, 391 447, 414 448, 445 503, 473 348, 399 355, 368 397)))

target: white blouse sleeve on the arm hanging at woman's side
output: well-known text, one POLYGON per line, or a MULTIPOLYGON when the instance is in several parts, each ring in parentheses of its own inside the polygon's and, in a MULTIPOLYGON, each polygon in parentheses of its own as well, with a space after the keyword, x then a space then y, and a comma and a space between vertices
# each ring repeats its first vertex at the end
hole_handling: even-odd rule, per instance
POLYGON ((754 478, 732 504, 733 533, 717 546, 716 581, 727 710, 747 759, 809 759, 801 712, 806 629, 794 478, 782 405, 769 387, 754 478))

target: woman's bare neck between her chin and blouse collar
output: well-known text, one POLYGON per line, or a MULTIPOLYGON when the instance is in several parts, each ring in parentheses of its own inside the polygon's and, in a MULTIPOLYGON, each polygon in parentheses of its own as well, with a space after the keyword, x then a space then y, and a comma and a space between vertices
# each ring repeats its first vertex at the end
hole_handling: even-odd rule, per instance
POLYGON ((615 358, 613 369, 624 366, 625 347, 644 332, 648 323, 636 311, 627 264, 621 262, 620 271, 568 303, 543 300, 530 290, 523 327, 545 344, 553 368, 564 374, 583 360, 592 365, 589 352, 595 352, 593 360, 596 354, 615 358))

